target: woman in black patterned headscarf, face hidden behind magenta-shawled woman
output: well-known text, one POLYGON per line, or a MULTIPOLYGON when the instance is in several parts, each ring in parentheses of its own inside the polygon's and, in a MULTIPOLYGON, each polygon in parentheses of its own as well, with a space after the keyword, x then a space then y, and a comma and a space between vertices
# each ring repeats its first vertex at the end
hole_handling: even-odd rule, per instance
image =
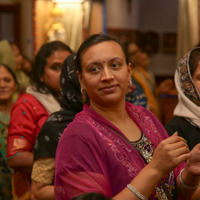
POLYGON ((55 154, 58 141, 74 116, 83 109, 81 88, 74 66, 75 58, 76 54, 71 54, 62 66, 60 77, 62 109, 49 116, 36 138, 31 176, 32 200, 55 199, 55 154))

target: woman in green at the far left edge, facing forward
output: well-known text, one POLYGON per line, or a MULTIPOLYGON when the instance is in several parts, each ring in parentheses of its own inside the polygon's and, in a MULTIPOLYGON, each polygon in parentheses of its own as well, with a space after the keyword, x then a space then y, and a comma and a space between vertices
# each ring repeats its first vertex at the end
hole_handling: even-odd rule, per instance
POLYGON ((13 71, 0 64, 0 197, 12 200, 12 170, 6 162, 8 124, 13 106, 13 94, 17 90, 17 79, 13 71))

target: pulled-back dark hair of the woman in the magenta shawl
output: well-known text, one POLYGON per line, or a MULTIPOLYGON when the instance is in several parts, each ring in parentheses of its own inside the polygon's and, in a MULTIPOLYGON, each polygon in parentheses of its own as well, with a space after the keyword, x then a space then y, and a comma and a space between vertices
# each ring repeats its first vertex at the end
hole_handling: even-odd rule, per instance
POLYGON ((110 36, 110 35, 107 35, 107 34, 103 34, 103 33, 99 33, 99 34, 94 34, 92 36, 90 36, 89 38, 87 38, 80 46, 78 52, 77 52, 77 56, 76 56, 76 61, 75 61, 75 67, 76 67, 76 70, 79 71, 79 73, 82 73, 82 66, 81 66, 81 58, 82 58, 82 53, 88 49, 89 47, 95 45, 95 44, 99 44, 99 43, 102 43, 102 42, 108 42, 108 41, 114 41, 116 43, 118 43, 123 52, 124 52, 124 56, 125 56, 125 59, 126 59, 126 63, 128 64, 128 57, 124 51, 124 48, 123 48, 123 43, 122 41, 117 38, 117 37, 114 37, 114 36, 110 36))

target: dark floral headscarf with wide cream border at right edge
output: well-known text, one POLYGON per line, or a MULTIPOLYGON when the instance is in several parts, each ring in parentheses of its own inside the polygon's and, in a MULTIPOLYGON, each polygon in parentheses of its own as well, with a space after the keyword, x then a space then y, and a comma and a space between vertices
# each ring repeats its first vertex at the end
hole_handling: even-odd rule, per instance
POLYGON ((188 121, 200 127, 200 94, 194 85, 189 66, 190 55, 193 50, 185 54, 175 72, 179 102, 174 110, 174 115, 185 117, 188 121))

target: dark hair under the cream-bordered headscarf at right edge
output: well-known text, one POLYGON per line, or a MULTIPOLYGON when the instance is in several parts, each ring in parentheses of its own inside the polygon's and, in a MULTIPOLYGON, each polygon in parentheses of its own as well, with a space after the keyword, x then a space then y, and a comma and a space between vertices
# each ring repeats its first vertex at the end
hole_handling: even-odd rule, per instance
POLYGON ((190 52, 189 56, 189 68, 192 77, 198 67, 199 61, 200 61, 200 47, 196 47, 190 52))

